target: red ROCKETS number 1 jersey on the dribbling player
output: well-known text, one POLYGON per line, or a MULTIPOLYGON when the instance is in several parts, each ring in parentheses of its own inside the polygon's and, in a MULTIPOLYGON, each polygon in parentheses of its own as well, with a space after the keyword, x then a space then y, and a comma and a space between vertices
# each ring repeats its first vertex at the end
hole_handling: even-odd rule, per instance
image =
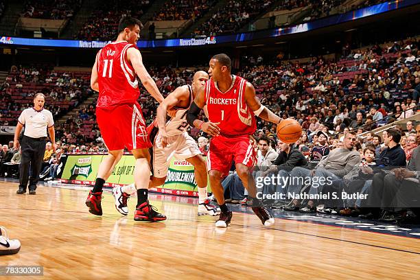
POLYGON ((206 82, 205 95, 209 121, 218 123, 220 134, 252 135, 257 128, 255 116, 245 102, 246 80, 233 75, 233 85, 222 93, 211 78, 206 82))

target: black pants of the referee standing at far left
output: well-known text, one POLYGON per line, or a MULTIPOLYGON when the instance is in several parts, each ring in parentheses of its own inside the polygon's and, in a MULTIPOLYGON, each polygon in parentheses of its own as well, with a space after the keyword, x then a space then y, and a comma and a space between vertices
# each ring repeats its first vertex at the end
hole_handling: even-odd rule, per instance
POLYGON ((31 138, 23 136, 21 147, 22 157, 21 164, 19 165, 19 189, 26 190, 27 181, 29 178, 29 170, 31 166, 32 175, 29 179, 29 189, 35 190, 36 184, 39 180, 40 167, 43 164, 45 153, 45 137, 31 138))

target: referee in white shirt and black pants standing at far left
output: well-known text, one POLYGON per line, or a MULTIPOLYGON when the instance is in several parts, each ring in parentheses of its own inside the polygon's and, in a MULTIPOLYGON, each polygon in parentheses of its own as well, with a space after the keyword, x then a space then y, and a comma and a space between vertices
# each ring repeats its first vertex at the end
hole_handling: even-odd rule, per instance
POLYGON ((36 184, 39 180, 40 167, 43 163, 45 152, 45 139, 47 139, 47 128, 52 146, 56 150, 56 135, 54 131, 54 119, 49 110, 44 109, 45 95, 36 93, 34 96, 34 107, 22 111, 18 119, 16 131, 14 132, 14 148, 19 148, 19 135, 23 126, 22 157, 19 165, 19 189, 16 194, 26 192, 29 169, 32 167, 32 176, 30 178, 30 194, 36 194, 36 184))

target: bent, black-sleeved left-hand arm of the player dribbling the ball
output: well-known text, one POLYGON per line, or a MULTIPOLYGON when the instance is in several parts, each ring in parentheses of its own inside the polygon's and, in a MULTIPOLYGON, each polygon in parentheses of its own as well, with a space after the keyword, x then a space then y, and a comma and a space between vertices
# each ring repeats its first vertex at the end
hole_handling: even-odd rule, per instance
POLYGON ((205 90, 202 88, 198 90, 194 102, 192 102, 191 106, 189 106, 189 110, 187 112, 187 122, 190 126, 194 128, 200 128, 200 130, 207 132, 211 136, 219 135, 220 128, 218 127, 218 124, 220 123, 212 123, 211 121, 205 122, 198 119, 198 115, 200 114, 202 108, 205 107, 205 105, 205 90))

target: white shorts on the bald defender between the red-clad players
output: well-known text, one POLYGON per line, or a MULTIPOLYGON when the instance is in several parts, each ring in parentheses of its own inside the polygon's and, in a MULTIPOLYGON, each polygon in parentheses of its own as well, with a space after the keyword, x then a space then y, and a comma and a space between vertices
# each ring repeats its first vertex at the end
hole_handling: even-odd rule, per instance
POLYGON ((163 178, 167 175, 172 156, 178 161, 184 161, 201 154, 196 141, 187 132, 168 137, 167 142, 168 145, 162 148, 160 133, 153 141, 152 167, 153 176, 156 178, 163 178))

